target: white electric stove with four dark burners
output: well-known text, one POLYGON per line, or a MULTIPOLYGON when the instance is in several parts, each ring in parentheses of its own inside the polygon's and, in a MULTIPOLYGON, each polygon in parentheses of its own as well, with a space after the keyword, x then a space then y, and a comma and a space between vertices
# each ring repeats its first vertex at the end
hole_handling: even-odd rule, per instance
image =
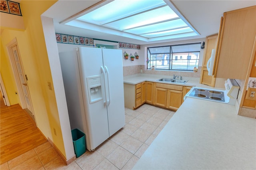
POLYGON ((190 91, 185 95, 184 100, 187 97, 192 97, 196 99, 235 105, 239 88, 240 87, 238 83, 236 83, 235 79, 227 79, 225 81, 225 90, 192 87, 192 89, 190 89, 190 91))

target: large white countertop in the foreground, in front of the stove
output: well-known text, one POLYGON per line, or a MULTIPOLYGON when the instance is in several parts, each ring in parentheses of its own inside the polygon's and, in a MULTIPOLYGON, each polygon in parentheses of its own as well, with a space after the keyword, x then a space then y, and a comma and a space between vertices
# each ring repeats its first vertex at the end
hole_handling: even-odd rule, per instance
POLYGON ((256 119, 233 105, 187 98, 133 169, 256 169, 256 119))

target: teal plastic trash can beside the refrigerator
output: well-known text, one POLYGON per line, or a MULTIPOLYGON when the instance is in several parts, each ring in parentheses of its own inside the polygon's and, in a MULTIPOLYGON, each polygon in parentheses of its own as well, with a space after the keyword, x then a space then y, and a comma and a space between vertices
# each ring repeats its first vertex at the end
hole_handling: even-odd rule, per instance
POLYGON ((71 130, 76 158, 85 152, 85 134, 79 129, 71 130))

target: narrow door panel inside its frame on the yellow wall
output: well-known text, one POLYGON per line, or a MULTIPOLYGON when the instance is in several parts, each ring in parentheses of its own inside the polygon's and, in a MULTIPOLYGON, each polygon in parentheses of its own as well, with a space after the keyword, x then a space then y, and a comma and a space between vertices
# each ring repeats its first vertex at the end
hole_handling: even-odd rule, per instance
POLYGON ((18 53, 17 45, 12 47, 12 53, 13 53, 13 57, 14 57, 15 65, 16 65, 16 70, 18 72, 18 76, 20 79, 20 85, 22 87, 22 92, 23 92, 23 95, 25 98, 26 107, 34 115, 33 109, 32 109, 32 103, 31 103, 31 99, 30 99, 30 93, 29 93, 29 89, 28 89, 28 84, 25 79, 25 74, 23 71, 20 55, 18 53))

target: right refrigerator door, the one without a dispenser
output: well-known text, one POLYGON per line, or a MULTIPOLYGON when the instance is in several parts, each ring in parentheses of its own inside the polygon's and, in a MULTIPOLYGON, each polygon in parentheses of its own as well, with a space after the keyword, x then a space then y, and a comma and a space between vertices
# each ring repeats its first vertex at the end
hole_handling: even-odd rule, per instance
POLYGON ((108 110, 108 128, 110 136, 124 127, 124 80, 122 50, 120 49, 102 49, 103 63, 108 77, 109 105, 108 110), (108 70, 108 71, 107 71, 108 70))

